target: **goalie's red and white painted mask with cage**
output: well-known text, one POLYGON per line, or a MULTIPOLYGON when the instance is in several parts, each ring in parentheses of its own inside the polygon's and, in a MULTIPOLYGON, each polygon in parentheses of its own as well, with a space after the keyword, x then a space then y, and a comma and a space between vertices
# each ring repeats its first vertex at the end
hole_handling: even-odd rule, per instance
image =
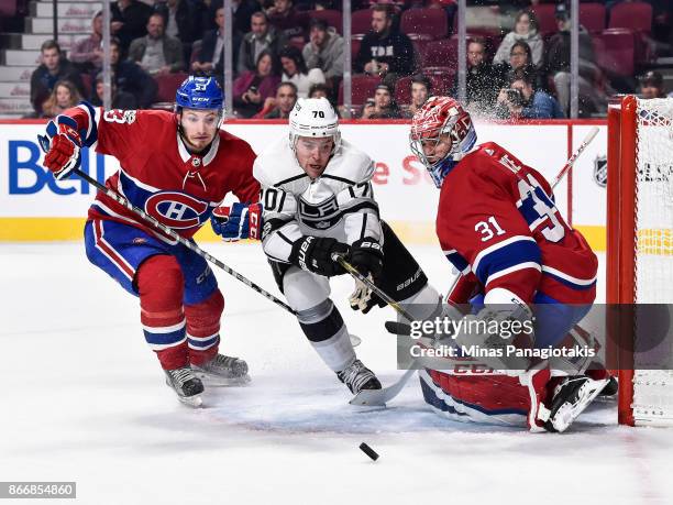
POLYGON ((431 97, 411 120, 411 152, 440 188, 444 177, 476 143, 470 113, 451 97, 431 97), (448 144, 445 153, 441 153, 448 144), (437 153, 440 151, 440 153, 437 153))

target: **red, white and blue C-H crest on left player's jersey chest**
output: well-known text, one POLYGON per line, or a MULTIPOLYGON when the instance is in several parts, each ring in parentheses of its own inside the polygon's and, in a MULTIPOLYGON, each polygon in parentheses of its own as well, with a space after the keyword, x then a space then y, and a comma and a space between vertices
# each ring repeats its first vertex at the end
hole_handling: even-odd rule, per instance
POLYGON ((184 193, 161 191, 145 201, 145 212, 178 230, 200 226, 206 220, 207 211, 207 202, 184 193))

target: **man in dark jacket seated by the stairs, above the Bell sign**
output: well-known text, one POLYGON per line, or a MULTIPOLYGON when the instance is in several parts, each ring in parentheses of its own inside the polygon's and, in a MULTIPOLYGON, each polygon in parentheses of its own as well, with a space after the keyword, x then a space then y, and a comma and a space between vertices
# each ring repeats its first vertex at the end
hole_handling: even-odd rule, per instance
POLYGON ((85 95, 84 84, 79 72, 60 53, 60 46, 55 41, 45 41, 40 48, 42 64, 31 75, 31 103, 42 114, 42 103, 49 98, 54 86, 59 80, 69 80, 80 95, 85 95))

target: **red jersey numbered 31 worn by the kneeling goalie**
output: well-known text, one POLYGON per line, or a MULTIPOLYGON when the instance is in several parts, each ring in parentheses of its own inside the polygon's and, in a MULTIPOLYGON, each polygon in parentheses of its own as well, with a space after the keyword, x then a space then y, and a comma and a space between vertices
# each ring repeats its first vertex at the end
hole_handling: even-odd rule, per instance
POLYGON ((463 274, 450 299, 503 287, 532 303, 593 303, 598 260, 561 217, 549 183, 496 143, 482 144, 446 175, 437 234, 463 274))

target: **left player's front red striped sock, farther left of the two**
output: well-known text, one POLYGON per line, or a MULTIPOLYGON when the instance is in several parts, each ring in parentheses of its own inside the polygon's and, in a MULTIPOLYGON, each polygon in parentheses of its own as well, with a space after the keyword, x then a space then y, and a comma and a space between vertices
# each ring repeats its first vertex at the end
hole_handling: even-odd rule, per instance
POLYGON ((164 370, 187 366, 184 279, 178 262, 165 254, 152 256, 141 265, 136 277, 147 344, 156 352, 164 370))

